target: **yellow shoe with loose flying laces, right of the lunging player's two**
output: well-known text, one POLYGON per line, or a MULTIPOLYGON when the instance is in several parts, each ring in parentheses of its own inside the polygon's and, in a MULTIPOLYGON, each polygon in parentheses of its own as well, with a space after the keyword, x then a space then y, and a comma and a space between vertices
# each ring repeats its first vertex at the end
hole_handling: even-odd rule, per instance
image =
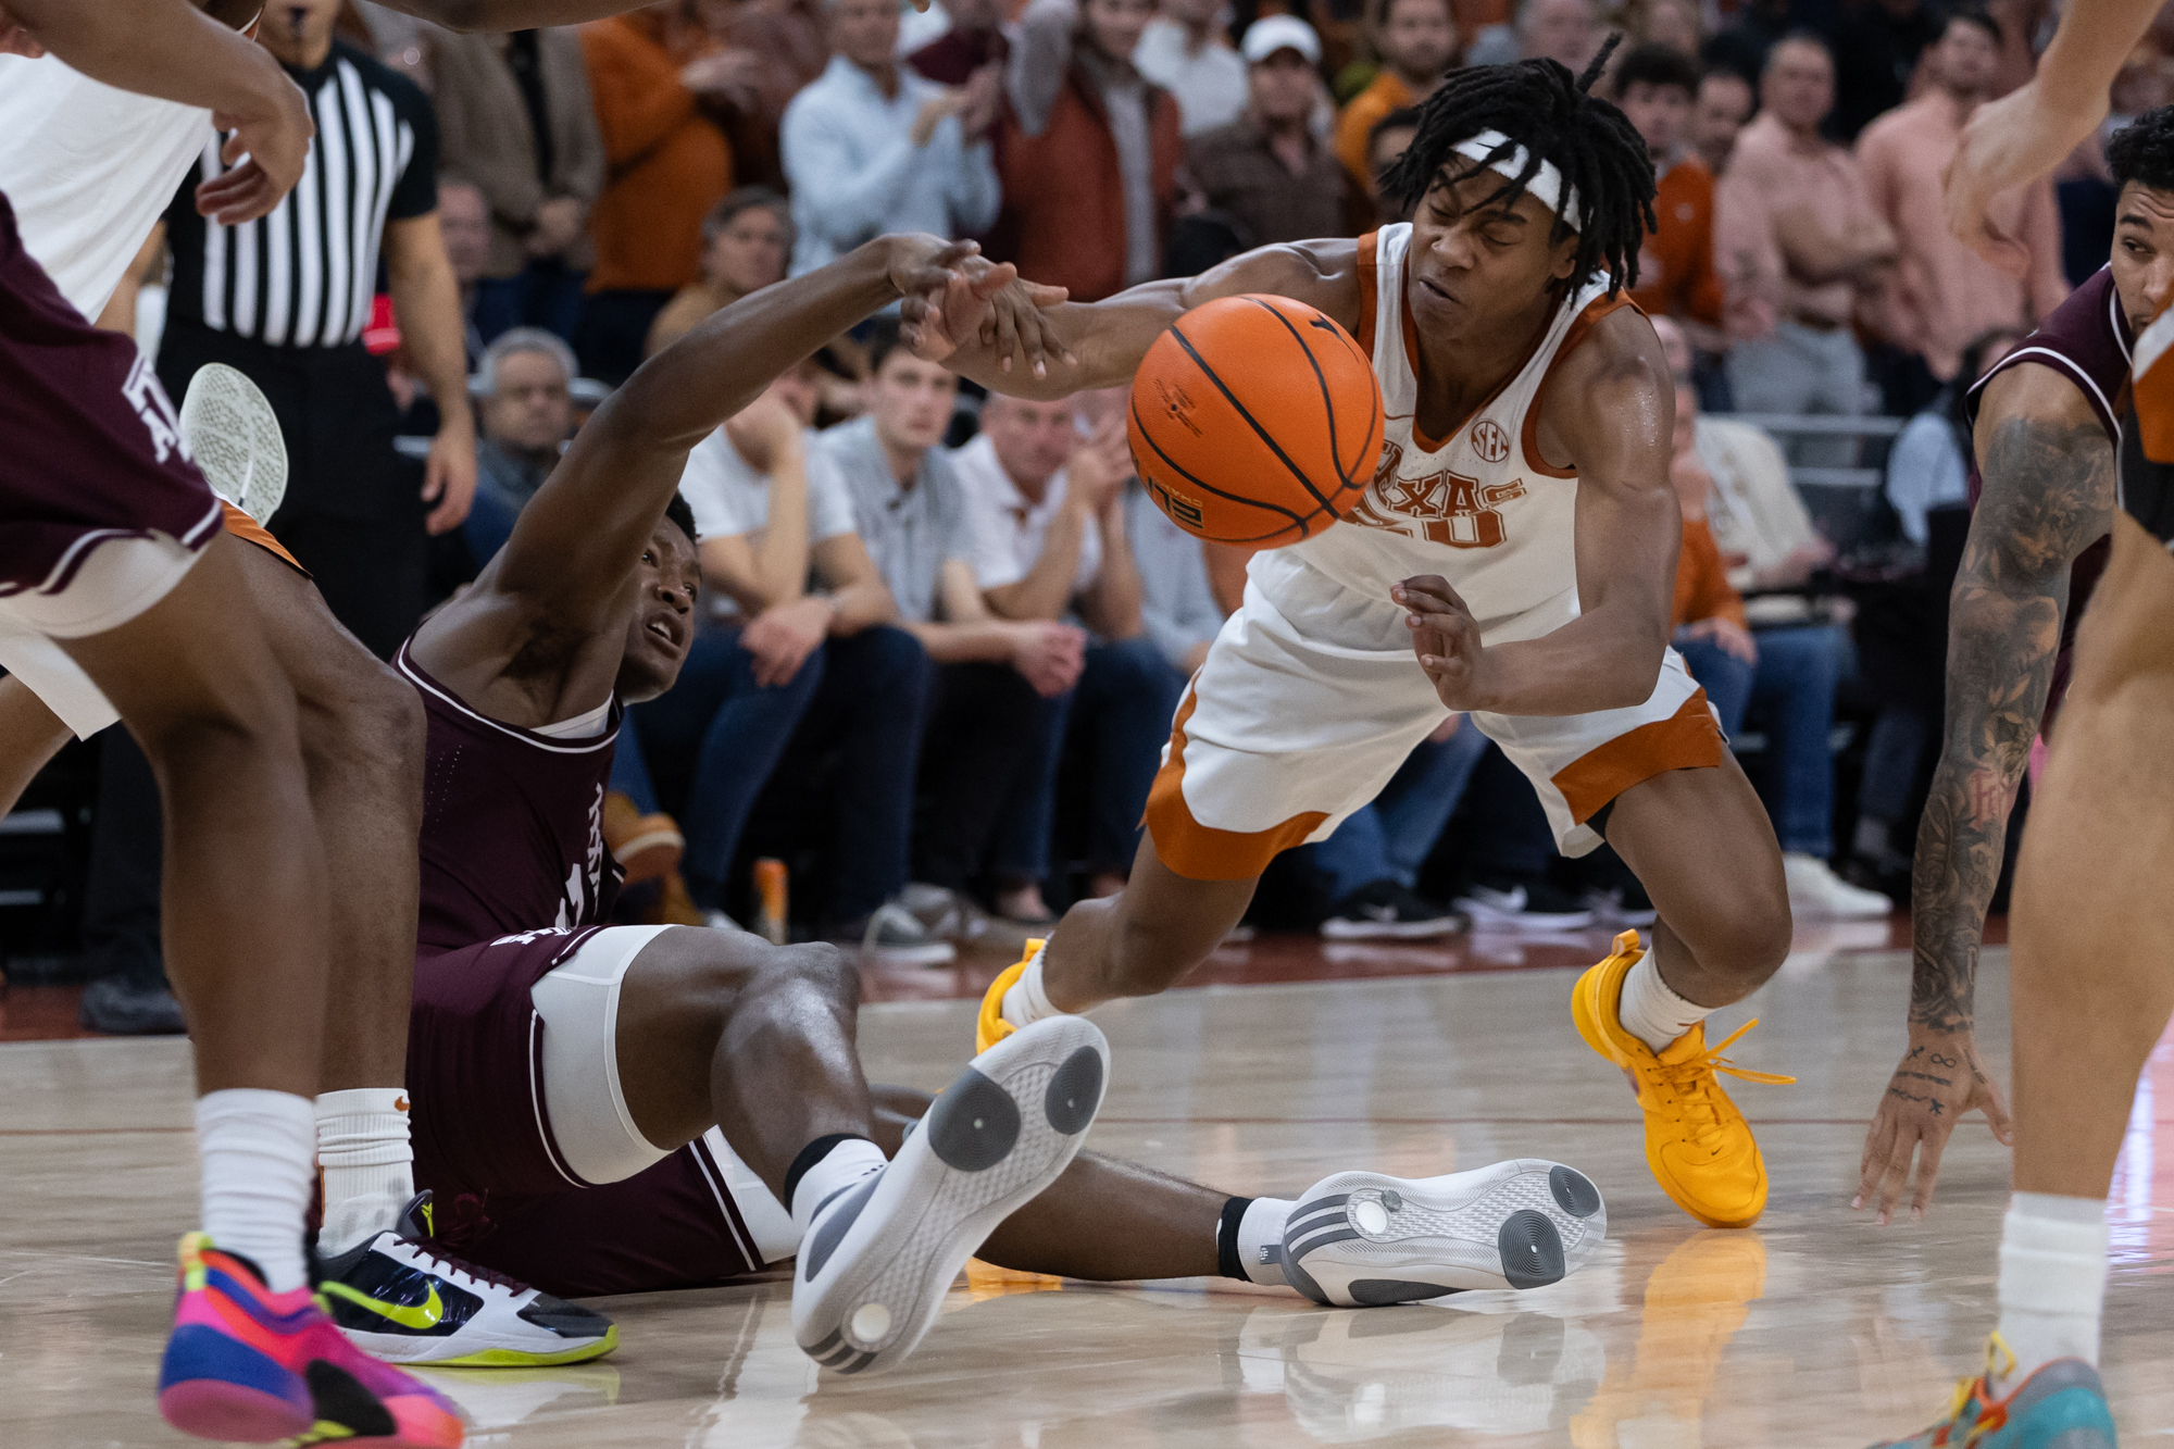
POLYGON ((1757 1016, 1711 1049, 1704 1025, 1659 1053, 1624 1031, 1624 977, 1644 955, 1637 931, 1624 931, 1615 938, 1615 955, 1578 977, 1570 996, 1578 1036, 1637 1081, 1637 1105, 1646 1112, 1646 1166, 1661 1190, 1707 1227, 1750 1227, 1765 1212, 1765 1157, 1750 1123, 1722 1090, 1720 1073, 1767 1083, 1796 1077, 1744 1070, 1722 1057, 1759 1025, 1757 1016))

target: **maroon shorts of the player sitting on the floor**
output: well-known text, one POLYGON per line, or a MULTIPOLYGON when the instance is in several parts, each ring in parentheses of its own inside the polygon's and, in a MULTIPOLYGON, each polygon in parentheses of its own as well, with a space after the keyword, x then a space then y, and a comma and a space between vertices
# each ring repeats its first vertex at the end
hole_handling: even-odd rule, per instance
MULTIPOLYGON (((604 927, 609 929, 609 927, 604 927)), ((552 1134, 533 990, 604 929, 548 929, 415 957, 415 1186, 448 1251, 559 1297, 707 1288, 759 1273, 715 1131, 633 1177, 587 1184, 552 1134)))

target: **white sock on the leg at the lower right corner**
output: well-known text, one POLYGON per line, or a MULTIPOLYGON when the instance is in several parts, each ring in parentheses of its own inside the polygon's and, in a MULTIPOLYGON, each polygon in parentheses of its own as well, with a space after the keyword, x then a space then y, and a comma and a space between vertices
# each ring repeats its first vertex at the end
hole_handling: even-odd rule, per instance
POLYGON ((2007 1395, 2057 1358, 2098 1366, 2098 1314, 2107 1301, 2107 1203, 2098 1197, 2017 1192, 2000 1225, 2000 1338, 2015 1353, 2007 1395))

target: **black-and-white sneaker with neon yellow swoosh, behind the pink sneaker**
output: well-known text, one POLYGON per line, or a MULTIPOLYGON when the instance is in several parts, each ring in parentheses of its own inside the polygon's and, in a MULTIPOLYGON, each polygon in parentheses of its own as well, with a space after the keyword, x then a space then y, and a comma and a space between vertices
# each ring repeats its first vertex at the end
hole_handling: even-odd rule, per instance
POLYGON ((430 1247, 430 1194, 400 1223, 317 1260, 317 1295, 357 1349, 389 1364, 544 1369, 602 1358, 620 1327, 430 1247))

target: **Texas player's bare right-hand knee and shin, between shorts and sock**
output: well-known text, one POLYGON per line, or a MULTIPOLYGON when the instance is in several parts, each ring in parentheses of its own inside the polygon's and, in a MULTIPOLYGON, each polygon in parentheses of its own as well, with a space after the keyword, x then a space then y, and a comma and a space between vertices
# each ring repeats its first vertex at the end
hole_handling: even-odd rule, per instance
POLYGON ((1774 825, 1728 755, 1711 770, 1667 770, 1615 801, 1609 844, 1661 918, 1661 979, 1704 1007, 1750 996, 1789 955, 1789 888, 1774 825))

